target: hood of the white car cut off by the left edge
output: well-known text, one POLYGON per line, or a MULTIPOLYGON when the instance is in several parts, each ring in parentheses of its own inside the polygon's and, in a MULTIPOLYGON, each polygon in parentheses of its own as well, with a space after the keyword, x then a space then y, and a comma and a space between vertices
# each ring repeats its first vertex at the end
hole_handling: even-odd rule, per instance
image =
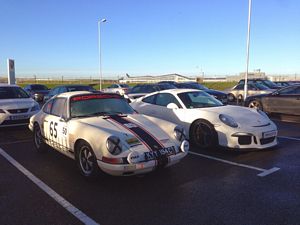
POLYGON ((0 99, 1 109, 24 109, 31 108, 36 103, 32 98, 20 98, 20 99, 0 99))

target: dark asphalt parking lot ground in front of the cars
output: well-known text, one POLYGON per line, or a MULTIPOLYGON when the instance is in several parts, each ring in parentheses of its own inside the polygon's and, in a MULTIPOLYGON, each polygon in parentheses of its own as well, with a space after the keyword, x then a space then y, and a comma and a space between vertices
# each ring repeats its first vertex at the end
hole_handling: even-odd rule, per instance
POLYGON ((63 155, 37 153, 26 127, 2 128, 0 224, 299 224, 300 124, 275 123, 275 149, 192 148, 173 167, 92 182, 63 155))

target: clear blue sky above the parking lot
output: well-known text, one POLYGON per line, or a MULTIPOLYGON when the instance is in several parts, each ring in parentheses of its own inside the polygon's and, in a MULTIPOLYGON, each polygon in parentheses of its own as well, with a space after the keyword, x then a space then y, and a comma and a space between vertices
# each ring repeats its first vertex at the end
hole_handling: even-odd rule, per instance
MULTIPOLYGON (((0 0, 0 75, 104 77, 245 71, 248 0, 0 0)), ((249 70, 300 73, 300 1, 252 0, 249 70)))

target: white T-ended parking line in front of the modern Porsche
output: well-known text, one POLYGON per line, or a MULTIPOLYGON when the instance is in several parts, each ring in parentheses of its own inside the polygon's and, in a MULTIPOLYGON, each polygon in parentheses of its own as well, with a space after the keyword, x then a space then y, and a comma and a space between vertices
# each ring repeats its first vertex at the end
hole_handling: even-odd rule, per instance
POLYGON ((239 167, 244 167, 244 168, 247 168, 247 169, 260 171, 261 173, 257 174, 257 176, 259 176, 259 177, 265 177, 267 175, 270 175, 271 173, 274 173, 274 172, 280 170, 280 168, 278 168, 278 167, 273 167, 271 169, 266 170, 266 169, 258 168, 258 167, 255 167, 255 166, 250 166, 250 165, 246 165, 246 164, 241 164, 241 163, 228 161, 228 160, 225 160, 225 159, 216 158, 216 157, 213 157, 213 156, 210 156, 210 155, 200 154, 200 153, 197 153, 197 152, 191 152, 190 151, 189 153, 192 154, 192 155, 197 155, 197 156, 200 156, 200 157, 203 157, 203 158, 212 159, 212 160, 219 161, 219 162, 222 162, 222 163, 227 163, 227 164, 234 165, 234 166, 239 166, 239 167))

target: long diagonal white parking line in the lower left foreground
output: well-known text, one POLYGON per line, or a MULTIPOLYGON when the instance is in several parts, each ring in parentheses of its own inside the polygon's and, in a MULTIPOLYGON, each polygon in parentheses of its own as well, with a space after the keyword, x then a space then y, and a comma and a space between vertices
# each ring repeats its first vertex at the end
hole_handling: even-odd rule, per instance
POLYGON ((51 198, 53 198, 56 202, 58 202, 62 207, 64 207, 68 212, 73 214, 77 219, 79 219, 82 223, 87 225, 99 225, 96 221, 88 217, 82 211, 73 206, 70 202, 64 199, 62 196, 57 194, 52 188, 46 185, 39 178, 34 176, 31 172, 29 172, 26 168, 24 168, 20 163, 18 163, 15 159, 13 159, 10 155, 8 155, 2 148, 0 148, 0 154, 9 161, 13 166, 15 166, 19 171, 21 171, 27 178, 29 178, 33 183, 35 183, 40 189, 42 189, 46 194, 48 194, 51 198))

